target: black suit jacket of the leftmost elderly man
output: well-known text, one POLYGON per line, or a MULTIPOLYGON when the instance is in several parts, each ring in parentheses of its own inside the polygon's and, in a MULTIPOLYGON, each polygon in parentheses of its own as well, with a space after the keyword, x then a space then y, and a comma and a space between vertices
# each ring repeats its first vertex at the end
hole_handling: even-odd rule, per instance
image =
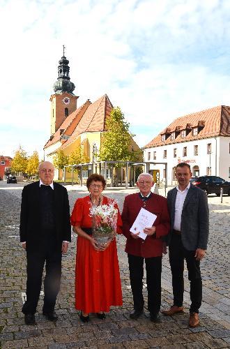
MULTIPOLYGON (((26 242, 26 250, 37 250, 43 244, 40 219, 39 181, 24 186, 20 216, 20 241, 26 242)), ((56 246, 71 241, 70 206, 66 188, 54 182, 54 221, 56 246)))

